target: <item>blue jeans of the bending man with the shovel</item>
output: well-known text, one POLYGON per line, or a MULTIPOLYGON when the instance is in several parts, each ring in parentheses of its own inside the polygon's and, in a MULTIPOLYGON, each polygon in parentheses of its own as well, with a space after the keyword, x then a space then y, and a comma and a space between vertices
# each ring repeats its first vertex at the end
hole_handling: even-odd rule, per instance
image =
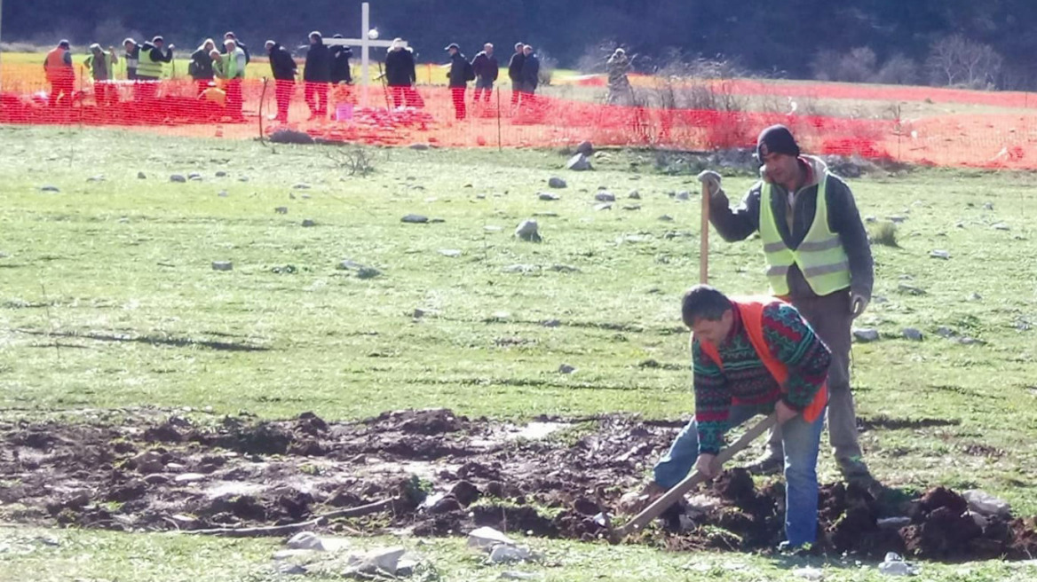
MULTIPOLYGON (((732 406, 729 426, 737 427, 758 413, 759 406, 732 406)), ((817 449, 824 414, 808 423, 798 415, 782 426, 785 449, 785 536, 792 547, 813 544, 817 539, 817 449)), ((699 458, 699 428, 692 418, 655 464, 655 483, 670 489, 680 483, 699 458)))

